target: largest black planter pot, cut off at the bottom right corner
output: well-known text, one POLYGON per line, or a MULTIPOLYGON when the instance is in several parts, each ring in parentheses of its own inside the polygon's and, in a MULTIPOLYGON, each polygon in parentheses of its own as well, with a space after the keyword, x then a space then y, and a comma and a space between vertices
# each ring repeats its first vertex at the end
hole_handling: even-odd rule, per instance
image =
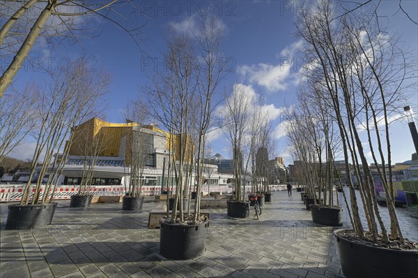
POLYGON ((418 250, 391 250, 364 245, 336 236, 341 269, 347 278, 354 277, 417 277, 418 250))

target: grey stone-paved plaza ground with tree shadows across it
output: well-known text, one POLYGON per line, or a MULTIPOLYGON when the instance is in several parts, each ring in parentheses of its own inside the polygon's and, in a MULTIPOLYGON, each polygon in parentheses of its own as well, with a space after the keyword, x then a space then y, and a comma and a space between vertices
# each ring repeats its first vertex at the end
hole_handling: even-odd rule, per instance
MULTIPOLYGON (((158 254, 160 230, 147 228, 156 205, 134 212, 121 204, 69 208, 59 201, 52 225, 8 231, 7 204, 0 204, 0 277, 343 277, 334 228, 313 224, 299 193, 274 193, 260 220, 252 211, 233 219, 226 208, 203 210, 211 220, 207 249, 187 261, 158 254)), ((401 209, 401 222, 417 240, 417 210, 410 209, 401 209)))

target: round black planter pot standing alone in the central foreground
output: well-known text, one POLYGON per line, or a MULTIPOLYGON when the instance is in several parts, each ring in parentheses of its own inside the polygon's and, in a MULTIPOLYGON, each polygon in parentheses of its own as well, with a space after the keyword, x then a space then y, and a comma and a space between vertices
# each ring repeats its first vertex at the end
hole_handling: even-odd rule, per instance
POLYGON ((208 221, 197 225, 161 223, 160 255, 167 259, 188 260, 206 250, 208 221))

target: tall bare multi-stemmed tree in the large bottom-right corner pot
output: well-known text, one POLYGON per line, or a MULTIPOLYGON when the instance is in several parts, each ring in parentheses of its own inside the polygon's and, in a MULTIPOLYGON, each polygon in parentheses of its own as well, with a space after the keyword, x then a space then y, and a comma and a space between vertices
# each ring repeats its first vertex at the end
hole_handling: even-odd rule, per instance
POLYGON ((368 147, 387 193, 390 236, 403 242, 391 186, 389 119, 403 106, 403 93, 411 88, 407 80, 416 65, 408 64, 408 54, 399 47, 398 36, 388 35, 389 32, 381 28, 379 17, 365 15, 361 9, 340 15, 338 6, 329 1, 319 1, 310 8, 298 15, 297 28, 306 43, 305 55, 311 63, 307 78, 319 84, 323 97, 330 99, 338 124, 350 186, 353 228, 360 238, 368 236, 359 218, 357 197, 350 177, 350 161, 359 183, 371 235, 368 237, 376 242, 381 232, 385 243, 390 240, 379 213, 373 177, 362 144, 360 133, 365 129, 368 147), (365 124, 362 124, 364 120, 365 124), (378 124, 380 120, 385 122, 382 135, 378 124))

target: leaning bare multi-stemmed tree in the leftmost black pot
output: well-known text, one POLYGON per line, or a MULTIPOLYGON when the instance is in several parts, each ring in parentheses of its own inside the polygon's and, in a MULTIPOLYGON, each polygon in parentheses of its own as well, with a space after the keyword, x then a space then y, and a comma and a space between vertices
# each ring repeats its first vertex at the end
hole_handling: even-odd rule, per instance
POLYGON ((36 148, 21 205, 29 203, 31 180, 37 171, 38 181, 31 204, 38 204, 42 180, 49 172, 42 197, 42 202, 47 201, 49 191, 57 185, 72 144, 70 131, 97 113, 98 100, 109 84, 109 76, 102 70, 89 72, 86 69, 83 64, 74 63, 71 70, 55 76, 54 82, 40 89, 36 128, 32 135, 36 140, 36 148), (58 155, 61 150, 63 154, 58 155), (38 169, 41 159, 42 164, 38 169))

